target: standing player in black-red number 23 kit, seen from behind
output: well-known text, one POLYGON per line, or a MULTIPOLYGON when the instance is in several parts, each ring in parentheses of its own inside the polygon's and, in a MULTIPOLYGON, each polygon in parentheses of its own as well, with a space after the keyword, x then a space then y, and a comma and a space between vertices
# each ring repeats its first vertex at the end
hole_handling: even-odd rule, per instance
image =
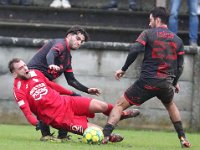
POLYGON ((173 102, 174 90, 179 92, 178 79, 183 71, 184 46, 182 40, 168 30, 168 13, 163 7, 150 12, 151 29, 144 30, 132 44, 124 66, 116 71, 119 80, 134 62, 139 52, 144 50, 141 75, 118 99, 104 127, 103 143, 118 123, 121 112, 132 105, 141 105, 152 97, 157 97, 167 109, 170 119, 180 139, 181 146, 189 148, 176 104, 173 102))

